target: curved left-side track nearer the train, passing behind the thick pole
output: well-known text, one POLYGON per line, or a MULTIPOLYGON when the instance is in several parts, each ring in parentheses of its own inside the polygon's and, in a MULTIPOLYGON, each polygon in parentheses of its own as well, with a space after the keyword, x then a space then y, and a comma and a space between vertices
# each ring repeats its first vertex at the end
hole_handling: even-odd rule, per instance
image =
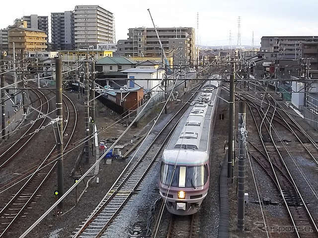
MULTIPOLYGON (((65 150, 74 134, 77 124, 77 114, 75 105, 69 98, 64 97, 63 102, 66 106, 63 109, 63 116, 65 118, 63 133, 67 138, 64 141, 65 150)), ((0 238, 8 236, 9 230, 13 229, 14 225, 17 224, 16 221, 21 217, 27 216, 27 209, 33 209, 36 198, 41 196, 39 189, 46 179, 49 178, 57 164, 58 154, 55 148, 56 146, 51 149, 48 156, 42 160, 42 163, 36 169, 32 170, 32 173, 28 172, 26 182, 15 194, 12 194, 11 199, 0 210, 0 238)))

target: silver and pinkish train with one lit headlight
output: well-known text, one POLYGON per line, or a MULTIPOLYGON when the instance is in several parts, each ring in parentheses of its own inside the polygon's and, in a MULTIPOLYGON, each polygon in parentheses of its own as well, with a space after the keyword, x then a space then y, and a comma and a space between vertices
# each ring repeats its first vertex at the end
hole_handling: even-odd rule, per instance
POLYGON ((218 90, 214 87, 196 98, 162 154, 159 191, 170 213, 194 214, 207 196, 218 90))

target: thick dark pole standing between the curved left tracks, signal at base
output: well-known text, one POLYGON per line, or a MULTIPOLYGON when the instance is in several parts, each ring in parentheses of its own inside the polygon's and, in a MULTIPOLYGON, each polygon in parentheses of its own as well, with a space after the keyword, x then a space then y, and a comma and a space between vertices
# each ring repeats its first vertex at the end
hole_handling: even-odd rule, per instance
MULTIPOLYGON (((64 194, 63 169, 63 104, 62 104, 62 59, 55 59, 56 67, 56 116, 58 124, 57 152, 58 152, 58 198, 64 194)), ((58 210, 63 208, 63 201, 58 204, 58 210)))

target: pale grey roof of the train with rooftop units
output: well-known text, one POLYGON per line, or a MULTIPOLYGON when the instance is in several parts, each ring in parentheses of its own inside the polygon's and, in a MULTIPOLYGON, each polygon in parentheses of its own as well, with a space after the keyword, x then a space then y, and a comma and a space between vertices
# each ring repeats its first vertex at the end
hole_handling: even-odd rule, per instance
MULTIPOLYGON (((211 87, 211 84, 206 85, 211 87)), ((165 163, 200 164, 208 160, 211 122, 216 112, 214 100, 217 100, 218 91, 201 92, 191 103, 163 152, 165 163)))

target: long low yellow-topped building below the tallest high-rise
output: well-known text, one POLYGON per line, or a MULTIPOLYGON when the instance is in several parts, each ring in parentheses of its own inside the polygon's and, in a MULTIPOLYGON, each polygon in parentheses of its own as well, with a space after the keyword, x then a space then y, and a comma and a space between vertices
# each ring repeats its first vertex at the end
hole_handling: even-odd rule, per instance
POLYGON ((82 61, 94 57, 95 60, 100 60, 106 56, 113 57, 112 51, 81 49, 76 51, 58 51, 59 56, 63 61, 82 61))

